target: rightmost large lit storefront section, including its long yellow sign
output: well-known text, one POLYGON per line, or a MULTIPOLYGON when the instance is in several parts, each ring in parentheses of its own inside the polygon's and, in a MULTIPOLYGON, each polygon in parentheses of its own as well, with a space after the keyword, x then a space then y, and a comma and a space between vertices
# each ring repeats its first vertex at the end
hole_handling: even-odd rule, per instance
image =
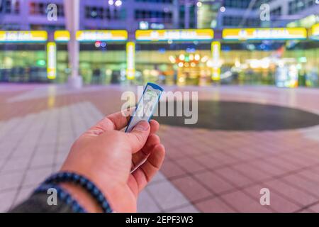
POLYGON ((306 28, 223 30, 222 82, 318 86, 318 43, 306 28))

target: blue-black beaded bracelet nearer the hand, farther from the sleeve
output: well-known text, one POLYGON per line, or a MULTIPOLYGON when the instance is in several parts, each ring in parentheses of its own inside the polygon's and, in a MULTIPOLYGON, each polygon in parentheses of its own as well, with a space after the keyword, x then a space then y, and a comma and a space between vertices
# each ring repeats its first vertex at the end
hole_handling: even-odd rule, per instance
POLYGON ((104 213, 112 213, 111 206, 108 204, 106 197, 101 190, 86 177, 78 175, 74 172, 57 172, 56 174, 48 177, 44 184, 58 184, 61 182, 72 182, 81 186, 86 192, 89 192, 96 202, 101 206, 104 213))

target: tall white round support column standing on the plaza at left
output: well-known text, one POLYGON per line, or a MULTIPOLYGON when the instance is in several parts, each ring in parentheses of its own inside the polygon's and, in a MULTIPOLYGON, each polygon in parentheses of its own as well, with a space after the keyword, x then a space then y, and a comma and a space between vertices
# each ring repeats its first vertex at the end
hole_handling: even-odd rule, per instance
POLYGON ((79 0, 64 0, 65 4, 65 18, 67 30, 70 33, 70 40, 68 43, 69 53, 69 67, 71 68, 71 75, 68 82, 70 87, 81 88, 82 77, 79 75, 79 42, 76 38, 76 33, 79 30, 79 0))

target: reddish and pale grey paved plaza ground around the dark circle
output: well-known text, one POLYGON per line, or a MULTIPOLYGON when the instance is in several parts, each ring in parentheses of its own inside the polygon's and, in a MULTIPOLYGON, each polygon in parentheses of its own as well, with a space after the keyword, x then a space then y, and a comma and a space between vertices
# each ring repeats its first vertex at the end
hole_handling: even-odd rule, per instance
MULTIPOLYGON (((74 139, 105 114, 118 111, 128 89, 134 91, 0 84, 0 211, 26 198, 58 170, 74 139)), ((198 97, 319 114, 318 89, 201 87, 198 97)), ((162 125, 159 135, 167 157, 140 195, 139 211, 319 211, 319 126, 221 131, 162 125), (262 188, 270 190, 270 206, 259 204, 262 188)))

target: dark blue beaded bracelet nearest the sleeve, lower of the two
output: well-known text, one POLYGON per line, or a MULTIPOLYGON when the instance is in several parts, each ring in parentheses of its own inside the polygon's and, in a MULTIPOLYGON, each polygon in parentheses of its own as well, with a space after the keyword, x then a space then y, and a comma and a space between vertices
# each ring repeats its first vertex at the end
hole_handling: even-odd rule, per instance
POLYGON ((74 213, 86 213, 86 210, 76 200, 74 200, 68 192, 56 184, 41 184, 33 193, 47 193, 47 191, 52 188, 57 190, 57 197, 64 201, 65 204, 71 206, 74 213))

